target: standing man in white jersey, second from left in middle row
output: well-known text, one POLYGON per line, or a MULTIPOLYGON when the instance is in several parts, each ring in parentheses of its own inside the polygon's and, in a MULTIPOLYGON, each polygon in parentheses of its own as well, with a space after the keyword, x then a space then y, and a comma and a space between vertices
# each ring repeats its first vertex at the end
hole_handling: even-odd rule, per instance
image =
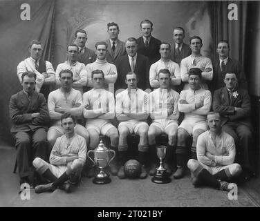
POLYGON ((77 61, 77 56, 79 53, 79 47, 76 44, 68 45, 67 51, 67 60, 59 64, 56 69, 55 78, 56 84, 58 86, 61 85, 61 81, 59 80, 59 73, 62 70, 71 70, 73 73, 73 84, 72 87, 76 90, 80 90, 83 94, 83 86, 86 85, 86 67, 83 63, 77 61))

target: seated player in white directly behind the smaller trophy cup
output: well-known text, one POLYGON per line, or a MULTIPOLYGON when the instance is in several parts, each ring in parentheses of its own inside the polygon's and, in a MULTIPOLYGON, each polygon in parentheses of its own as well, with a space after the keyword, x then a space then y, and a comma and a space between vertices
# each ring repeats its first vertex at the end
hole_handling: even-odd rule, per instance
MULTIPOLYGON (((171 174, 169 164, 173 162, 174 146, 177 140, 178 128, 178 99, 180 95, 172 90, 170 87, 171 73, 168 69, 161 69, 158 71, 158 79, 160 88, 154 90, 149 94, 150 101, 150 116, 153 119, 149 126, 148 141, 149 148, 151 148, 152 157, 156 156, 156 136, 160 134, 167 134, 169 142, 166 148, 165 155, 165 169, 167 173, 171 174)), ((150 175, 154 175, 155 166, 150 171, 150 175)))

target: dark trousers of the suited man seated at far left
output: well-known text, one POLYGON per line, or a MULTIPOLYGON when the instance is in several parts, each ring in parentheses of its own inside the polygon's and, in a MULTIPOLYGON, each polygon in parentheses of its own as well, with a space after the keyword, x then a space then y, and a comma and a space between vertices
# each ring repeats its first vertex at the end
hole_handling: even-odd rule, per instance
POLYGON ((17 148, 17 166, 20 177, 30 174, 30 166, 35 157, 48 161, 47 132, 39 128, 32 132, 15 133, 15 146, 17 148))

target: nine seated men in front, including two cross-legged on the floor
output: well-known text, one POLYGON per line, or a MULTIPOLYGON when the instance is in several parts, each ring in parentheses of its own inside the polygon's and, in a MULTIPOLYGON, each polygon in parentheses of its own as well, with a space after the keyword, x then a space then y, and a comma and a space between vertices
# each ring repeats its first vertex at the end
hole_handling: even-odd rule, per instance
MULTIPOLYGON (((66 185, 62 184, 69 178, 72 182, 77 180, 79 171, 86 160, 86 145, 90 143, 89 148, 95 148, 100 134, 110 137, 110 148, 117 151, 118 146, 119 171, 117 164, 113 164, 111 172, 114 175, 118 174, 120 178, 125 177, 123 165, 127 159, 127 135, 131 133, 140 136, 138 144, 138 160, 142 164, 140 178, 147 177, 145 169, 147 152, 150 149, 152 157, 156 157, 155 137, 162 133, 169 137, 165 164, 168 173, 171 173, 169 164, 172 162, 172 153, 176 146, 178 169, 174 173, 175 178, 184 175, 188 153, 186 142, 187 137, 192 135, 193 160, 189 160, 188 167, 192 171, 193 179, 198 178, 197 180, 206 184, 228 189, 228 184, 219 182, 219 180, 225 180, 224 178, 241 172, 239 164, 232 164, 235 146, 233 138, 228 133, 232 133, 233 128, 236 128, 239 137, 239 140, 235 138, 237 146, 239 146, 239 142, 243 144, 243 169, 251 169, 248 153, 250 151, 249 143, 252 139, 250 139, 249 126, 243 124, 250 111, 250 102, 246 91, 236 88, 236 75, 225 75, 226 87, 216 90, 214 93, 213 109, 219 114, 211 113, 210 115, 208 113, 212 104, 212 96, 209 90, 200 87, 201 70, 199 68, 189 70, 190 88, 183 90, 180 95, 170 88, 171 74, 167 69, 159 71, 160 88, 149 94, 137 88, 138 77, 135 73, 127 73, 125 77, 127 89, 116 95, 116 102, 114 102, 113 94, 104 89, 102 70, 93 71, 91 77, 93 89, 83 95, 83 114, 87 118, 85 128, 80 124, 75 124, 74 116, 82 116, 82 98, 80 91, 72 88, 73 73, 71 70, 62 70, 59 73, 61 88, 50 93, 49 110, 44 97, 33 90, 35 74, 27 72, 21 76, 24 89, 13 95, 10 100, 10 115, 15 124, 14 128, 16 128, 12 132, 16 137, 17 163, 21 182, 28 182, 28 162, 30 160, 26 158, 27 151, 35 151, 33 157, 35 160, 32 164, 36 171, 53 182, 53 184, 37 186, 36 192, 53 191, 58 186, 69 190, 69 182, 66 185), (229 91, 231 91, 230 96, 229 91), (225 102, 228 103, 225 104, 225 102), (180 126, 178 126, 179 111, 185 113, 180 126), (118 130, 110 122, 115 114, 120 122, 118 130), (147 124, 149 115, 152 119, 150 126, 147 124), (50 164, 47 163, 48 145, 42 144, 46 140, 47 129, 42 125, 48 124, 49 117, 51 127, 47 137, 50 146, 54 145, 50 153, 50 164), (210 131, 207 131, 207 123, 210 131), (226 129, 227 133, 222 132, 221 123, 225 124, 223 131, 226 129), (41 135, 37 136, 39 130, 41 135), (201 135, 202 133, 203 135, 201 135), (40 139, 37 140, 37 137, 40 139), (32 150, 30 148, 31 140, 32 150), (196 161, 197 157, 198 161, 196 161)), ((150 173, 154 173, 154 166, 150 173)), ((196 184, 197 181, 194 183, 196 184)))

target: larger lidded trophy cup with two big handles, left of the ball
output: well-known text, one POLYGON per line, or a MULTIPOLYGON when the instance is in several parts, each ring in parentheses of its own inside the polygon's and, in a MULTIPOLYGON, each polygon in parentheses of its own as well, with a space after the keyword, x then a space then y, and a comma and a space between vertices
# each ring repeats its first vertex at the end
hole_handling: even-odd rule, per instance
POLYGON ((111 160, 109 160, 109 152, 113 152, 113 157, 111 158, 111 160, 113 160, 115 157, 115 151, 106 148, 101 140, 95 150, 88 151, 87 153, 88 158, 93 162, 93 166, 100 168, 100 173, 98 173, 93 179, 94 184, 108 184, 111 182, 111 178, 103 170, 104 167, 109 165, 111 162, 111 160), (90 153, 94 153, 94 160, 89 156, 90 153))

